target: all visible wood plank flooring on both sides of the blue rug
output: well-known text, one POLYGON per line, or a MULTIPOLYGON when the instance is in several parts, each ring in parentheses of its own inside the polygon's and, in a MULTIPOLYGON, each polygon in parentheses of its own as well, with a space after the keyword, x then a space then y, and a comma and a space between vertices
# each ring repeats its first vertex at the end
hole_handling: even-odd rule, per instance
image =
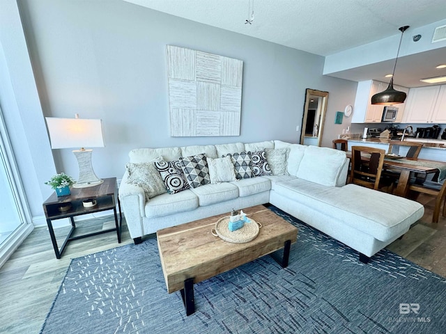
MULTIPOLYGON (((426 208, 420 223, 406 233, 403 239, 395 241, 387 248, 446 277, 446 218, 441 217, 438 224, 430 223, 433 201, 427 196, 420 196, 419 201, 426 208)), ((101 225, 104 229, 111 228, 114 225, 113 218, 97 218, 77 223, 81 233, 97 230, 101 225)), ((58 238, 63 239, 66 233, 67 228, 56 230, 58 238)), ((39 333, 71 258, 132 242, 124 223, 121 244, 118 244, 115 232, 99 234, 71 241, 63 257, 56 260, 47 228, 33 230, 0 269, 0 333, 39 333)))

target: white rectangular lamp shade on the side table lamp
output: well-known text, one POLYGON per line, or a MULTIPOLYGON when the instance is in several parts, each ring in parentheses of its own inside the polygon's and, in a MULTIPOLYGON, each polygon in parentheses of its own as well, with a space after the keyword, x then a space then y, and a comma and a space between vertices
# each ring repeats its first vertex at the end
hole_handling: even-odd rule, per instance
POLYGON ((47 120, 51 148, 103 148, 102 120, 54 118, 47 120))

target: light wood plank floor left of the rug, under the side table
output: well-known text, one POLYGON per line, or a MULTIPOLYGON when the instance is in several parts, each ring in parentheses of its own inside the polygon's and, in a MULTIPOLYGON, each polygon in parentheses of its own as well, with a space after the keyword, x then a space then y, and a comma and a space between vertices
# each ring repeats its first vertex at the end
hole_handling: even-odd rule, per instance
MULTIPOLYGON (((95 218, 76 225, 78 234, 87 234, 114 228, 114 218, 95 218)), ((69 230, 54 230, 59 247, 69 230)), ((0 333, 39 333, 71 259, 132 243, 124 220, 121 240, 118 244, 116 232, 108 232, 70 241, 57 260, 48 229, 35 228, 0 269, 0 333)))

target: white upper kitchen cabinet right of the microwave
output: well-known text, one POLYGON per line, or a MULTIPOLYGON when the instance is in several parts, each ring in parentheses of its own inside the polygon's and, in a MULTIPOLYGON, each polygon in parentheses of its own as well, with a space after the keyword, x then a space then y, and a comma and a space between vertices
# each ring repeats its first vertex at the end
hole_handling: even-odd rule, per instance
POLYGON ((436 120, 433 120, 433 113, 439 92, 440 86, 410 88, 409 95, 406 100, 406 112, 405 115, 403 115, 403 122, 438 122, 436 120))

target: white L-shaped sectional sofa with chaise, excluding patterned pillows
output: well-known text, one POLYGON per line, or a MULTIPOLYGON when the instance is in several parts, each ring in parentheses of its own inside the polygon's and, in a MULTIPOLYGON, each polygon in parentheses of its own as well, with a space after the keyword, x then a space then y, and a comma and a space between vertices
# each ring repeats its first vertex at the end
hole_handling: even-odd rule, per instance
POLYGON ((275 161, 268 162, 273 174, 281 175, 206 184, 150 199, 141 186, 129 183, 127 169, 119 199, 135 244, 161 228, 270 203, 357 250, 360 260, 367 263, 369 257, 405 234, 424 214, 424 207, 415 201, 346 184, 349 161, 345 152, 331 148, 265 141, 141 148, 130 151, 129 157, 130 164, 153 164, 155 160, 175 161, 201 153, 216 159, 262 149, 271 157, 280 153, 274 154, 275 161), (284 166, 277 161, 282 156, 284 166))

